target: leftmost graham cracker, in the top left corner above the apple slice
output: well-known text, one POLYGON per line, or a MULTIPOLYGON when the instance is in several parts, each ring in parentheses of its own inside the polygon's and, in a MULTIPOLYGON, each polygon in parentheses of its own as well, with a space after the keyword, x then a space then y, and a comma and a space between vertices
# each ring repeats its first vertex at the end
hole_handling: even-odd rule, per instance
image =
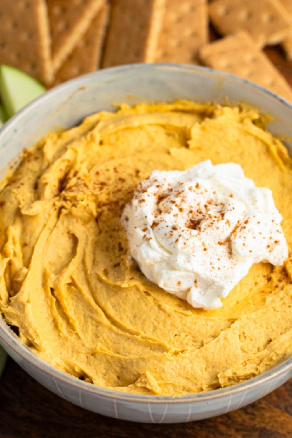
POLYGON ((45 84, 51 81, 45 0, 0 1, 0 63, 19 68, 45 84))

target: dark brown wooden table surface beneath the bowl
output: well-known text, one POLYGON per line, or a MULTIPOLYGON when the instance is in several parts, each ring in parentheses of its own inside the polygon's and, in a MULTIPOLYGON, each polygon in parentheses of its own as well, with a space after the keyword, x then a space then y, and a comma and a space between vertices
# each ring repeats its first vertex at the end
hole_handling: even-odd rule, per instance
MULTIPOLYGON (((266 54, 292 86, 281 48, 266 54)), ((0 381, 0 438, 91 437, 292 438, 292 381, 220 417, 182 424, 139 424, 103 417, 43 388, 9 359, 0 381)))

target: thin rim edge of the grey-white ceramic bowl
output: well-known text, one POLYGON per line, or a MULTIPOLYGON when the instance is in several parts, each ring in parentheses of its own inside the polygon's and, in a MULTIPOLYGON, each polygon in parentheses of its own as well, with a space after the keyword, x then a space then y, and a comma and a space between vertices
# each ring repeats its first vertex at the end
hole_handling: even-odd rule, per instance
MULTIPOLYGON (((125 64, 118 67, 109 67, 106 69, 98 70, 93 73, 84 74, 82 76, 79 76, 78 78, 71 79, 70 81, 66 81, 63 84, 57 85, 56 87, 52 88, 51 90, 48 90, 43 95, 39 96, 37 99, 35 99, 33 102, 25 106, 23 109, 21 109, 18 113, 16 113, 13 117, 11 117, 4 126, 0 129, 0 142, 1 137, 3 133, 8 129, 13 129, 14 125, 18 123, 18 119, 22 117, 24 113, 27 111, 32 110, 35 106, 38 106, 41 102, 45 102, 46 99, 49 99, 53 97, 55 93, 59 92, 60 88, 66 89, 67 87, 71 87, 72 85, 76 84, 76 88, 82 87, 82 83, 84 82, 84 79, 91 77, 91 76, 102 76, 103 74, 109 73, 120 73, 127 70, 139 70, 139 69, 165 69, 165 70, 188 70, 188 71, 201 71, 201 72, 208 72, 211 74, 221 76, 222 79, 233 79, 237 82, 251 85, 253 88, 256 88, 258 91, 264 92, 265 94, 269 95, 273 99, 277 100, 278 102, 281 102, 284 106, 287 106, 287 109, 292 110, 292 104, 288 102, 288 100, 282 98, 281 96, 275 94, 274 92, 271 92, 267 88, 262 87, 261 85, 258 85, 252 81, 249 81, 244 78, 240 78, 239 76, 236 76, 234 74, 225 73, 219 70, 215 70, 211 67, 204 67, 204 66, 193 66, 188 64, 170 64, 170 63, 139 63, 139 64, 125 64)), ((76 91, 75 91, 76 92, 76 91)), ((73 93, 72 93, 73 94, 73 93)), ((63 371, 58 370, 57 368, 53 367, 46 361, 42 360, 40 357, 38 357, 35 353, 33 353, 27 346, 25 346, 24 343, 21 342, 21 340, 14 334, 14 332, 10 329, 9 325, 5 322, 4 318, 0 317, 0 339, 3 341, 3 346, 7 344, 12 350, 14 350, 15 353, 19 354, 22 358, 27 360, 30 364, 37 367, 40 371, 46 371, 48 372, 54 379, 58 378, 59 380, 62 380, 64 383, 73 385, 77 387, 79 390, 85 390, 91 393, 94 393, 98 396, 105 396, 107 398, 116 399, 120 401, 128 401, 128 402, 135 402, 135 403, 155 403, 155 404, 164 404, 167 403, 199 403, 204 402, 212 399, 221 399, 223 397, 231 396, 232 394, 235 394, 237 392, 241 392, 245 390, 245 392, 251 388, 254 388, 264 382, 272 381, 273 379, 277 378, 281 374, 284 374, 286 371, 289 371, 289 369, 292 367, 292 357, 284 360, 280 364, 276 365, 275 367, 272 367, 271 370, 266 371, 262 374, 259 374, 258 376, 254 378, 250 378, 246 381, 243 381, 242 383, 232 385, 229 387, 221 388, 221 389, 215 389, 213 391, 208 392, 201 392, 198 394, 193 395, 186 395, 186 396, 144 396, 144 395, 136 395, 131 394, 127 392, 120 392, 115 391, 112 389, 106 389, 99 387, 97 385, 88 383, 86 381, 79 380, 77 377, 71 376, 70 374, 67 374, 63 371), (4 325, 4 327, 2 326, 4 325)))

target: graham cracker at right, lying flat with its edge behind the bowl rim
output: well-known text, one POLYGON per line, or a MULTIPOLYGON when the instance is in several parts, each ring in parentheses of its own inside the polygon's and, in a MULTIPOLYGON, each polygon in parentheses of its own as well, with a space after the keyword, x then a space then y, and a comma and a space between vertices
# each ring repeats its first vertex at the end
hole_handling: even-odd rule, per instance
POLYGON ((199 50, 201 61, 212 68, 236 74, 283 96, 292 102, 292 89, 268 57, 257 49, 244 31, 205 44, 199 50))

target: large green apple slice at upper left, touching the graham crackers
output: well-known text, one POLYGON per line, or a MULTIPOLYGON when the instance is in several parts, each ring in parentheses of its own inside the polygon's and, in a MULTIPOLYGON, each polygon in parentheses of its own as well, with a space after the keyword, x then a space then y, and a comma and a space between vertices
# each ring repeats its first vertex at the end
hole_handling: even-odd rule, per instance
POLYGON ((34 78, 6 64, 0 64, 0 95, 8 117, 39 97, 46 88, 34 78))

